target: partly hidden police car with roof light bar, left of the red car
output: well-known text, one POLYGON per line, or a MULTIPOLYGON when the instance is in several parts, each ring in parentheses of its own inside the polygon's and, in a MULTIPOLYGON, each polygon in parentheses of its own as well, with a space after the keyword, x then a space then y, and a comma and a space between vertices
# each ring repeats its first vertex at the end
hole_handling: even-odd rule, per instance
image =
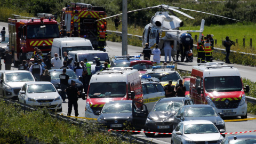
POLYGON ((110 67, 129 67, 131 61, 140 61, 140 55, 122 55, 115 56, 115 59, 112 59, 110 62, 110 67))

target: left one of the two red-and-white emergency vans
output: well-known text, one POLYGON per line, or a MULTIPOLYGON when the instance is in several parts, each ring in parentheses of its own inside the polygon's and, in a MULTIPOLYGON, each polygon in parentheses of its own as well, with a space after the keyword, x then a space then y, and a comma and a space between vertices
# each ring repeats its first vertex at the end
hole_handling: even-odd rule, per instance
MULTIPOLYGON (((92 75, 86 98, 85 117, 98 118, 96 111, 108 101, 143 102, 139 72, 131 67, 108 68, 92 75)), ((140 108, 139 105, 137 108, 140 108)))

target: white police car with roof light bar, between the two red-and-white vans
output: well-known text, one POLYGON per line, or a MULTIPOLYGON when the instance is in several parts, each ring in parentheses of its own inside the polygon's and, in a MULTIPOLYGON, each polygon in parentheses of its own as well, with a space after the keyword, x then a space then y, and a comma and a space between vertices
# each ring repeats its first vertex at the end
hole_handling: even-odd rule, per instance
POLYGON ((178 80, 181 79, 180 74, 174 70, 174 66, 153 66, 142 76, 155 77, 159 79, 163 86, 167 85, 169 81, 172 81, 172 85, 176 85, 178 80))

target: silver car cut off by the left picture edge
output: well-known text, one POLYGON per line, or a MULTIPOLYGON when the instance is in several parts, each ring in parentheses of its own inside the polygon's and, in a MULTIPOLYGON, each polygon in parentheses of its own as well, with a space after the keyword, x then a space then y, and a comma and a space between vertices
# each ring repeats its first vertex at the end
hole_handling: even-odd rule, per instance
POLYGON ((17 99, 21 87, 27 82, 35 82, 35 78, 27 70, 1 70, 0 96, 17 99))

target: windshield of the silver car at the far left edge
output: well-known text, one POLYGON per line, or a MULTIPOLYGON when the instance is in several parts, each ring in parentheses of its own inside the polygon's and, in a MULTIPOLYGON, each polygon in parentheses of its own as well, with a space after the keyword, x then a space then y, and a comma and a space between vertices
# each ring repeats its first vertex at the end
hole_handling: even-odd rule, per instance
POLYGON ((30 73, 8 73, 5 74, 5 82, 31 82, 35 81, 30 73))

